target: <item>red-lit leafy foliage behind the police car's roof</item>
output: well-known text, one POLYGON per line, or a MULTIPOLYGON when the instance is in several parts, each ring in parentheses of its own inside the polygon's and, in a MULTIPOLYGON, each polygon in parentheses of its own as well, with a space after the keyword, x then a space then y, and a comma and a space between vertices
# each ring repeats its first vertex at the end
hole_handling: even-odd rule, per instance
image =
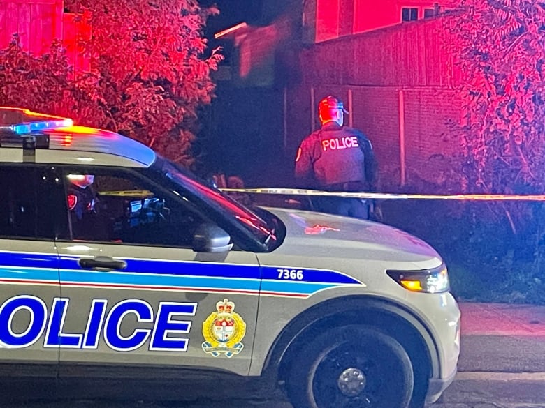
POLYGON ((92 27, 90 40, 80 38, 90 72, 72 80, 57 43, 40 57, 13 45, 0 61, 10 67, 0 72, 0 103, 66 114, 191 164, 198 109, 210 103, 210 70, 222 59, 217 50, 205 56, 202 32, 217 10, 196 0, 66 0, 65 8, 92 27))

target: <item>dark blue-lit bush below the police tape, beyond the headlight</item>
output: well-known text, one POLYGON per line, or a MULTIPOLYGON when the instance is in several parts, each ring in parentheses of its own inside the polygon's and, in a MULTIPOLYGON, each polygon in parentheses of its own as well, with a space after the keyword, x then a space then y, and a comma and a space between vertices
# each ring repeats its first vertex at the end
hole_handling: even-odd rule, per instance
POLYGON ((414 199, 382 206, 386 223, 442 255, 458 298, 545 304, 545 204, 414 199))

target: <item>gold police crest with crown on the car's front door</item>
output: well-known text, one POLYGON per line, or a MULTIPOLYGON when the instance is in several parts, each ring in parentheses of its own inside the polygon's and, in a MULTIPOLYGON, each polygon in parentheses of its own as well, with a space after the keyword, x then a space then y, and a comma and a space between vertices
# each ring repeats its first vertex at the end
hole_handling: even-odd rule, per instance
POLYGON ((214 357, 225 354, 231 358, 242 352, 246 323, 235 313, 235 303, 224 299, 216 303, 216 312, 203 322, 203 350, 214 357))

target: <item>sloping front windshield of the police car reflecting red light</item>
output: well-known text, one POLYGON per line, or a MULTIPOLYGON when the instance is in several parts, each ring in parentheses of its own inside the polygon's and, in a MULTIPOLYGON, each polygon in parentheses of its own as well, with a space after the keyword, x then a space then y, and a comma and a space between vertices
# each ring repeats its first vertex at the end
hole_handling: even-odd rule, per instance
POLYGON ((213 206, 233 220, 237 220, 240 226, 250 232, 260 243, 266 244, 271 238, 275 239, 275 229, 270 227, 263 218, 236 202, 224 192, 207 186, 205 181, 198 179, 197 176, 187 169, 160 156, 157 157, 152 168, 167 176, 184 189, 189 190, 189 192, 197 197, 201 197, 210 206, 213 206))

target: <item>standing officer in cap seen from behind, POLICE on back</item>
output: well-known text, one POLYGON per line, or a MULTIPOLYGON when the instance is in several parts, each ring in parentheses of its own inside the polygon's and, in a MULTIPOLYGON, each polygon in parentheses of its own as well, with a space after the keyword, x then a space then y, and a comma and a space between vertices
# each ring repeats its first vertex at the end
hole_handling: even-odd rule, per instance
MULTIPOLYGON (((295 176, 301 186, 326 191, 373 192, 377 163, 371 142, 360 131, 343 126, 342 101, 326 96, 318 105, 321 129, 301 142, 295 176)), ((312 198, 314 209, 356 218, 369 218, 365 200, 343 197, 312 198)))

